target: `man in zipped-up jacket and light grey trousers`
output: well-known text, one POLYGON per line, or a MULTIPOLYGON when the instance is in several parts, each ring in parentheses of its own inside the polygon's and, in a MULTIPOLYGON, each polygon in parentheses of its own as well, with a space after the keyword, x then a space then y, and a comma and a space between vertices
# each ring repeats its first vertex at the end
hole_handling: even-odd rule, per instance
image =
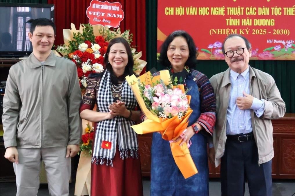
POLYGON ((13 162, 17 195, 37 195, 41 160, 50 195, 68 195, 71 157, 79 151, 82 133, 77 69, 51 51, 51 20, 33 20, 29 38, 32 54, 10 68, 6 82, 5 158, 13 162))

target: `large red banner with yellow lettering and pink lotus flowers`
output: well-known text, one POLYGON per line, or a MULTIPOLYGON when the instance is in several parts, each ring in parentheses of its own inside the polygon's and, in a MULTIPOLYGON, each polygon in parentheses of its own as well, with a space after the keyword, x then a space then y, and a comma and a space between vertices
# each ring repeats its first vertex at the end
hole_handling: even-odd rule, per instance
POLYGON ((173 31, 187 31, 202 60, 224 59, 221 46, 238 33, 256 60, 295 60, 295 5, 283 0, 158 0, 158 52, 173 31))

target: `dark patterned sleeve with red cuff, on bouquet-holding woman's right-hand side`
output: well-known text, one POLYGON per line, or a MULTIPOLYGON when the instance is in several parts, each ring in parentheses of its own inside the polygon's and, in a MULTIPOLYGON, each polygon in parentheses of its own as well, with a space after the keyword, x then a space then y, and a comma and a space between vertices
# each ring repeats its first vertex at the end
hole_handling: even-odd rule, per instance
POLYGON ((216 100, 214 91, 205 74, 196 71, 194 75, 199 87, 201 100, 201 115, 196 122, 202 125, 204 129, 212 135, 216 121, 216 100))

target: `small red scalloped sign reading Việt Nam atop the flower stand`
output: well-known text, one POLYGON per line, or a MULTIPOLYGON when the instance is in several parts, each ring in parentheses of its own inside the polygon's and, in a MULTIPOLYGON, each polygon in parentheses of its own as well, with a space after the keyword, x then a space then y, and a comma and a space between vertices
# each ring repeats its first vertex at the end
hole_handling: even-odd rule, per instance
POLYGON ((124 12, 120 3, 109 3, 108 1, 92 0, 86 10, 89 24, 119 27, 124 19, 124 12))

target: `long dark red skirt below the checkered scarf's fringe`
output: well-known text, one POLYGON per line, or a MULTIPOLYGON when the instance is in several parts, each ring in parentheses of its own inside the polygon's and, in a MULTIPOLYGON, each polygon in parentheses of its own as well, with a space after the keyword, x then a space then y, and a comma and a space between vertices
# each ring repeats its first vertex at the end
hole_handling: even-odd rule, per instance
POLYGON ((140 158, 120 158, 113 166, 91 164, 91 195, 143 195, 140 158))

